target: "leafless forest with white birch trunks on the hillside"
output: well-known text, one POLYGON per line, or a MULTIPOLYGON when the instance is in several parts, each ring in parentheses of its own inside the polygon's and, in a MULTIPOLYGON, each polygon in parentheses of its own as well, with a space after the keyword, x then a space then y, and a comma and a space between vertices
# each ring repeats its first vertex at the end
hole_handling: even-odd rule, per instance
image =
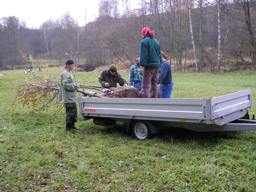
POLYGON ((196 71, 220 71, 223 61, 256 69, 256 1, 142 0, 130 9, 123 0, 122 14, 117 5, 117 0, 101 0, 99 17, 85 26, 68 12, 39 29, 15 16, 2 18, 0 68, 24 68, 29 54, 60 65, 73 59, 85 71, 117 62, 129 67, 140 54, 141 29, 149 27, 180 70, 187 60, 195 62, 196 71))

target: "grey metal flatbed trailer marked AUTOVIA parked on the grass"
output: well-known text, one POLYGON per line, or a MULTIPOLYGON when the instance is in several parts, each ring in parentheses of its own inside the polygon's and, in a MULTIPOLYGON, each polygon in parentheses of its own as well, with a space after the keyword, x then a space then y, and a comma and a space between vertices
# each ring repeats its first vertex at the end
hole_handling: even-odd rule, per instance
MULTIPOLYGON (((145 140, 164 127, 197 132, 256 130, 250 120, 252 90, 211 99, 78 98, 83 120, 109 126, 127 123, 127 133, 145 140)), ((253 116, 254 117, 254 116, 253 116)))

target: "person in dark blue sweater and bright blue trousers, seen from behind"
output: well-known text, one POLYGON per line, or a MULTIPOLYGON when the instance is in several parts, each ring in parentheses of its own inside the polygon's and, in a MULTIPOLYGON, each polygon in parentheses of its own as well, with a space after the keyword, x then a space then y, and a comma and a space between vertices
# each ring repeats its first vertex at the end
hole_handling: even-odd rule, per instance
POLYGON ((172 68, 170 63, 167 61, 167 55, 162 52, 162 66, 161 73, 157 79, 157 84, 162 92, 162 98, 171 98, 173 82, 172 82, 172 68))

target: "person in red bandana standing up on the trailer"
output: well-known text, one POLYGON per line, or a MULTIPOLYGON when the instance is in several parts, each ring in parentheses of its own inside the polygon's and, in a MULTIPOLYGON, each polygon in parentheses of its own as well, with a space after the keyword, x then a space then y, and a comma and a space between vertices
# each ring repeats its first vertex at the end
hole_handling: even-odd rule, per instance
POLYGON ((154 32, 148 27, 142 29, 143 39, 140 43, 140 66, 143 69, 143 98, 157 98, 157 76, 162 64, 160 43, 155 39, 154 32), (151 83, 151 94, 149 84, 151 83))

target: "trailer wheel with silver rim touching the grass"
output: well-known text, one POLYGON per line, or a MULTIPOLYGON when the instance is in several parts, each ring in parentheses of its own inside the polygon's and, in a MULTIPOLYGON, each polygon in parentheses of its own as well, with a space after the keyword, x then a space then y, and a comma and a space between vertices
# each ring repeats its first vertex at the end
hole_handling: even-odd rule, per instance
POLYGON ((152 134, 149 124, 143 120, 134 121, 132 124, 132 134, 138 140, 150 139, 152 134))

